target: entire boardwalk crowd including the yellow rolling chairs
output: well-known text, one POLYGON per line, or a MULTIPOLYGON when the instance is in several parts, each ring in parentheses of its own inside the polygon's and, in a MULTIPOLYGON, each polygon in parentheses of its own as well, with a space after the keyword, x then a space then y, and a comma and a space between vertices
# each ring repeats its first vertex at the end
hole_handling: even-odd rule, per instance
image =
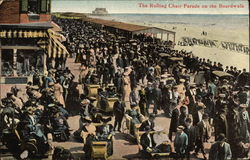
MULTIPOLYGON (((53 149, 50 140, 67 141, 68 108, 76 103, 79 129, 71 133, 83 143, 86 159, 111 156, 119 132, 138 144, 140 158, 192 158, 200 151, 204 159, 247 158, 250 74, 245 69, 223 69, 174 50, 171 41, 129 39, 82 20, 54 21, 81 63, 79 92, 73 93, 75 77, 68 68, 52 66, 40 81, 27 84, 26 99, 16 87, 1 99, 1 142, 15 157, 44 157, 53 149), (155 127, 159 116, 171 118, 169 128, 155 127), (207 157, 204 144, 211 139, 207 157)), ((66 149, 53 150, 53 159, 74 159, 66 149)))

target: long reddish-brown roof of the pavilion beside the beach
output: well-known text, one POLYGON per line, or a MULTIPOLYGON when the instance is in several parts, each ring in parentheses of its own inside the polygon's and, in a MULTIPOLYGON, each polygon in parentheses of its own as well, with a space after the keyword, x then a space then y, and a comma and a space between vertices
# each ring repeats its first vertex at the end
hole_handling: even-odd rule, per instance
POLYGON ((152 27, 147 27, 147 26, 111 21, 111 20, 103 20, 103 19, 97 19, 97 18, 88 18, 88 19, 84 19, 84 21, 101 24, 101 25, 105 25, 108 27, 113 27, 113 28, 117 28, 117 29, 121 29, 125 31, 130 31, 130 32, 152 28, 152 27))

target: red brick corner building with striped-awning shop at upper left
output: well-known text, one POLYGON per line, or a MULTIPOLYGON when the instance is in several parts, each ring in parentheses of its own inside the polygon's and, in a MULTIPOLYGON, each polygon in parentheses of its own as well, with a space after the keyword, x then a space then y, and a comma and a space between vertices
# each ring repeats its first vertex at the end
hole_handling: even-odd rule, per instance
POLYGON ((51 22, 51 0, 3 0, 0 15, 1 84, 32 81, 34 71, 43 75, 67 57, 60 27, 51 22))

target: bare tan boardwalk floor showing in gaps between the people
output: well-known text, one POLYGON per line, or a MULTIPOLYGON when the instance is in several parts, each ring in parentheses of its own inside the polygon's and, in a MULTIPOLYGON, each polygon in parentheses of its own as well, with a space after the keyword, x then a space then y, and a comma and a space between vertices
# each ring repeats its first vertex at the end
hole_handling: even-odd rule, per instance
MULTIPOLYGON (((67 60, 67 66, 69 67, 71 72, 75 75, 74 81, 78 82, 80 64, 74 63, 74 60, 72 58, 69 58, 67 60)), ((152 112, 152 108, 150 110, 152 112)), ((69 117, 68 123, 69 123, 70 129, 72 130, 71 133, 73 133, 75 130, 78 129, 79 118, 80 118, 79 115, 69 117)), ((114 119, 111 121, 111 123, 113 122, 114 122, 114 119)), ((157 130, 166 129, 168 131, 170 119, 166 118, 163 112, 160 112, 159 115, 157 115, 155 119, 155 123, 156 123, 157 130)), ((116 135, 114 136, 114 154, 109 159, 112 159, 112 160, 138 159, 137 157, 139 156, 138 154, 139 149, 138 149, 138 146, 132 141, 133 141, 132 138, 128 134, 116 133, 116 135)), ((71 135, 70 140, 68 142, 61 142, 61 143, 53 142, 53 145, 63 146, 67 149, 70 149, 70 151, 73 153, 73 155, 77 159, 83 159, 83 156, 84 156, 84 152, 82 151, 83 144, 76 142, 73 138, 73 135, 71 135)), ((206 149, 210 148, 209 143, 206 144, 205 146, 206 146, 206 149)), ((200 154, 199 157, 202 157, 202 155, 200 154)))

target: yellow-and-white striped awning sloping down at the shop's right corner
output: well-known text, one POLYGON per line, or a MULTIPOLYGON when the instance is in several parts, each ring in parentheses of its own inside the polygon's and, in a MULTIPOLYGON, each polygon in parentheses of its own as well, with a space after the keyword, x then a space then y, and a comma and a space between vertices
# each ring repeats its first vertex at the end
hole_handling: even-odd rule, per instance
POLYGON ((48 56, 51 58, 67 57, 69 52, 66 47, 59 41, 58 37, 53 34, 52 30, 48 30, 49 43, 48 43, 48 56))

